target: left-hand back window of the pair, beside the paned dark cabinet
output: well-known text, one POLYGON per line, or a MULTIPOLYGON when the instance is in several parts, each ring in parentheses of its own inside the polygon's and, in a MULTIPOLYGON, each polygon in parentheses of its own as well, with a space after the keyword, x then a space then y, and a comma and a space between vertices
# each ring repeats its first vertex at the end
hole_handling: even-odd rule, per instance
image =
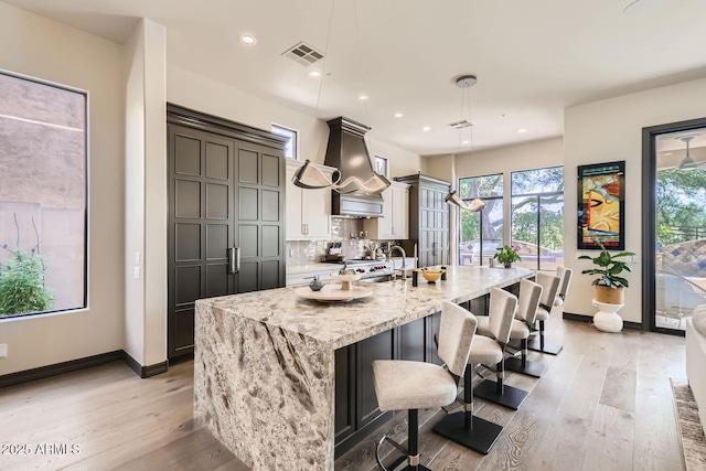
POLYGON ((479 213, 460 211, 459 265, 489 265, 503 242, 503 174, 460 179, 459 197, 480 197, 488 204, 479 213))

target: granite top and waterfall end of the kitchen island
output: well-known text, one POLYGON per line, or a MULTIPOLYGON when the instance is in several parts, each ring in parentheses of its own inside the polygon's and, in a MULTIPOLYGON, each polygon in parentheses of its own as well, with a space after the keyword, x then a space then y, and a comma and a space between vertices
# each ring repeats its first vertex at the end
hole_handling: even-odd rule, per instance
POLYGON ((333 470, 338 349, 532 275, 449 267, 445 281, 370 283, 371 296, 341 303, 297 288, 197 300, 194 417, 254 470, 333 470))

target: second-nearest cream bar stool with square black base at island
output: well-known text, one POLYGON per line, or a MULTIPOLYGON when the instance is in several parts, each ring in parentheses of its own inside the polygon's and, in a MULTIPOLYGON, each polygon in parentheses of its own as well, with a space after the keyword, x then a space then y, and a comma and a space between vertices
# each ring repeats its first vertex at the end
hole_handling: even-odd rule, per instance
MULTIPOLYGON (((499 288, 490 293, 490 312, 493 318, 512 319, 517 307, 517 298, 499 288), (495 314, 500 312, 500 314, 495 314)), ((507 322, 509 324, 511 322, 507 322)), ((439 339, 439 347, 442 340, 439 339)), ((434 431, 480 453, 488 454, 502 433, 498 424, 473 416, 473 365, 499 363, 503 357, 501 346, 494 340, 477 335, 471 345, 471 354, 463 376, 463 413, 449 414, 441 419, 434 431)))

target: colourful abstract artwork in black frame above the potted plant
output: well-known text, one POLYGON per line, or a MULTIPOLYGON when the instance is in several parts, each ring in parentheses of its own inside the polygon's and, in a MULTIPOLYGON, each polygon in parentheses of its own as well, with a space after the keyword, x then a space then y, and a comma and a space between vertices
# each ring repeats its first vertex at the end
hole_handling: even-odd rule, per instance
POLYGON ((625 248, 625 161, 579 165, 578 247, 625 248))

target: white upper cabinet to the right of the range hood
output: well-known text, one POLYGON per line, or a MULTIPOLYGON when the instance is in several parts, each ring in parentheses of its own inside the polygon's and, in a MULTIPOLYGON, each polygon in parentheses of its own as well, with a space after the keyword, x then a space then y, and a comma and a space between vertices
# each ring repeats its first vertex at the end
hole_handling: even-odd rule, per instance
POLYGON ((365 220, 365 231, 372 239, 409 238, 409 185, 392 182, 382 193, 383 217, 365 220))

